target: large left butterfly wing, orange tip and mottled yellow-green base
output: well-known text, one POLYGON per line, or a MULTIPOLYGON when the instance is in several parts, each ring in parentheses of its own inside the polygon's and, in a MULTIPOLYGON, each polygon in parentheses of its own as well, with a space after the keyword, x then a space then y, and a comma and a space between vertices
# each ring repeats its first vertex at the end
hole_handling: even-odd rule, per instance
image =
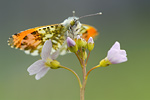
POLYGON ((63 26, 60 24, 31 28, 12 35, 8 40, 8 45, 24 50, 27 54, 38 55, 45 41, 51 39, 52 52, 55 52, 65 40, 62 29, 63 26))

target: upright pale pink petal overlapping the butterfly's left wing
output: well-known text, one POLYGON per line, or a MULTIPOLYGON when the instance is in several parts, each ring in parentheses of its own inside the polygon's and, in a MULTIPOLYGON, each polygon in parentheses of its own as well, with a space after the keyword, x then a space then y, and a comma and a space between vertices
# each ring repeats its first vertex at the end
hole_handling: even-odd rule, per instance
POLYGON ((48 57, 50 58, 51 49, 52 49, 52 42, 51 39, 49 39, 44 43, 44 46, 42 48, 41 57, 43 60, 46 60, 48 57))

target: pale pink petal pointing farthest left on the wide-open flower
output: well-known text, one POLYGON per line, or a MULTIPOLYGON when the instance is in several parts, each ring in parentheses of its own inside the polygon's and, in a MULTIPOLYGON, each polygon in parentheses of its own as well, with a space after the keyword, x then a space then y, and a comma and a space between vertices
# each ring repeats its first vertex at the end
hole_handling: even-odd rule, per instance
POLYGON ((34 62, 30 67, 28 67, 27 71, 29 72, 29 75, 34 75, 38 73, 42 68, 44 68, 44 61, 38 60, 34 62))

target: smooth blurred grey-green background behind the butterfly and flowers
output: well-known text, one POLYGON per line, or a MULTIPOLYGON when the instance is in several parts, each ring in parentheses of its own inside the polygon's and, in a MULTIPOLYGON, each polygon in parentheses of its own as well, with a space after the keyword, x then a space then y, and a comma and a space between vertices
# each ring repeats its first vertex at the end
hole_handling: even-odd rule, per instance
MULTIPOLYGON (((0 0, 0 100, 79 100, 79 85, 71 72, 50 70, 37 81, 26 70, 40 57, 7 45, 12 34, 61 23, 73 10, 76 16, 103 12, 80 20, 100 33, 87 70, 106 56, 115 41, 128 54, 125 63, 91 72, 85 100, 150 100, 149 0, 0 0)), ((82 77, 74 54, 57 60, 82 77)))

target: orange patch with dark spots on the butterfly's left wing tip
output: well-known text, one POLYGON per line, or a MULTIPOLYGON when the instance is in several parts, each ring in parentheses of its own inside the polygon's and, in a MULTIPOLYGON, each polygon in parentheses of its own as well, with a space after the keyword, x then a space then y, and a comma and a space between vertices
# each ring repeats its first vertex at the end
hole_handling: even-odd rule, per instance
POLYGON ((12 35, 8 40, 8 44, 21 50, 28 50, 29 48, 36 48, 40 43, 40 39, 41 37, 36 29, 28 29, 12 35))

